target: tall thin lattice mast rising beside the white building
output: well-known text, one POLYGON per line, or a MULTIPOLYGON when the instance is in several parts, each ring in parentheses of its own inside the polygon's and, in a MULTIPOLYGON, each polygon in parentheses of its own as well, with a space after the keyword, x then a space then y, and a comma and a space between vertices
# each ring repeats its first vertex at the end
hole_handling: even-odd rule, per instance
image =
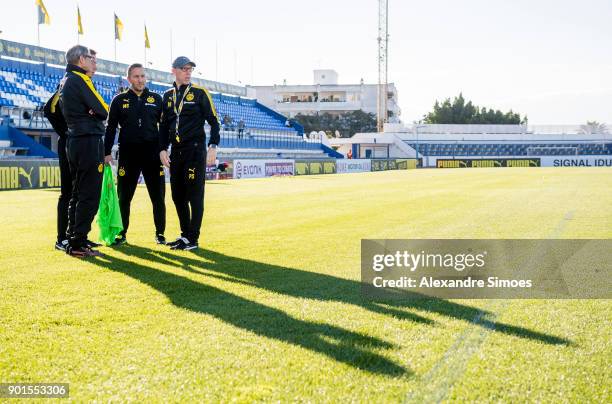
POLYGON ((387 59, 389 57, 389 1, 378 0, 378 96, 377 128, 383 131, 384 123, 387 121, 387 59))

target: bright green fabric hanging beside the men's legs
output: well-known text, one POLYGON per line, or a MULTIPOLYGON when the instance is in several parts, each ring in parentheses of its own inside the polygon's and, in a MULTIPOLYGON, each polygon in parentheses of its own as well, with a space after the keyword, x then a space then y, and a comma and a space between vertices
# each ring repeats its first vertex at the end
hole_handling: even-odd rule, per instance
POLYGON ((123 230, 115 178, 113 177, 113 170, 108 164, 104 165, 102 195, 98 207, 98 226, 100 227, 100 241, 107 246, 111 245, 123 230))

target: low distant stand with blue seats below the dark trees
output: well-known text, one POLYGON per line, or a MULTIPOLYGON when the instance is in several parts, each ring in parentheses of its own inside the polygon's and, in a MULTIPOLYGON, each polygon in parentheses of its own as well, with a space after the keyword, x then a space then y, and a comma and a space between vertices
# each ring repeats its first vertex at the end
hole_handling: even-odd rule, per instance
MULTIPOLYGON (((358 158, 490 159, 612 155, 612 125, 385 124, 383 133, 330 139, 339 152, 358 158)), ((547 160, 548 161, 548 160, 547 160)), ((552 160, 551 160, 552 161, 552 160)), ((607 160, 606 160, 607 161, 607 160)))

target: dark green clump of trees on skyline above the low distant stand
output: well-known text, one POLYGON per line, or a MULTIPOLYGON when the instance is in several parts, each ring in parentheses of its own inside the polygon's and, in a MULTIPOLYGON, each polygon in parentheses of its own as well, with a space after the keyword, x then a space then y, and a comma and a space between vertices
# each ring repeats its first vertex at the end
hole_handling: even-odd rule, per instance
POLYGON ((423 123, 438 124, 527 124, 527 117, 512 110, 504 113, 486 107, 478 107, 463 98, 459 93, 453 100, 445 99, 442 103, 436 100, 433 111, 423 116, 423 123))

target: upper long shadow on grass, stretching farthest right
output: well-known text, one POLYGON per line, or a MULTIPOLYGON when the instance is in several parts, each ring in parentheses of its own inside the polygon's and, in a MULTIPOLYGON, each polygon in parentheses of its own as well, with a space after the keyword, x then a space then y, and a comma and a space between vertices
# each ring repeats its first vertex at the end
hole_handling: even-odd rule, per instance
MULTIPOLYGON (((128 254, 151 259, 151 251, 130 246, 128 254)), ((551 345, 570 345, 568 339, 530 330, 528 328, 505 324, 492 320, 494 313, 476 307, 436 298, 415 297, 411 299, 370 299, 361 293, 361 283, 331 275, 286 268, 261 262, 231 257, 209 250, 196 250, 191 255, 156 251, 153 259, 164 258, 166 263, 179 261, 187 271, 202 268, 224 276, 230 282, 244 283, 253 287, 292 297, 320 301, 335 301, 358 306, 373 313, 392 316, 422 324, 434 325, 435 321, 409 310, 419 310, 445 317, 474 323, 478 318, 479 326, 520 338, 540 341, 551 345)), ((210 276, 210 273, 204 273, 210 276)))

